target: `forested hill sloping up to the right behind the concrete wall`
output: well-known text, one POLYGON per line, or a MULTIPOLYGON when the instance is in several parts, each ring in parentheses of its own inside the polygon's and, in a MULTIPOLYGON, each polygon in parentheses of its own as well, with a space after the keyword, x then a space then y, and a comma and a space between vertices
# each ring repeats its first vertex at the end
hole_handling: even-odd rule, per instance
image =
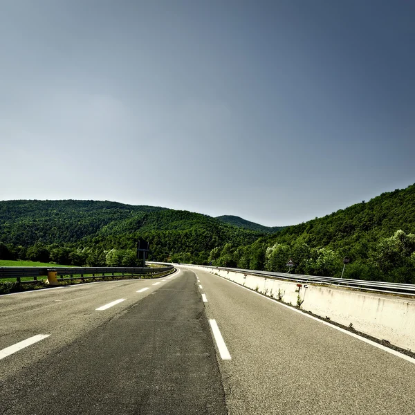
POLYGON ((382 193, 368 202, 338 210, 263 237, 248 246, 212 252, 215 265, 295 273, 345 276, 415 284, 415 185, 382 193))

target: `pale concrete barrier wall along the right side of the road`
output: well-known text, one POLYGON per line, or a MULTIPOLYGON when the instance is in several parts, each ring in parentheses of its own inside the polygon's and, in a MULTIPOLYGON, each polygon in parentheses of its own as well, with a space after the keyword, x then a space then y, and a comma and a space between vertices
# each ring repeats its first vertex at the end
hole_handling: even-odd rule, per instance
POLYGON ((301 303, 302 309, 315 315, 329 317, 344 326, 353 324, 357 331, 415 351, 414 299, 311 284, 302 284, 298 288, 296 283, 279 279, 202 266, 194 268, 220 275, 269 297, 281 299, 286 304, 297 306, 301 303))

